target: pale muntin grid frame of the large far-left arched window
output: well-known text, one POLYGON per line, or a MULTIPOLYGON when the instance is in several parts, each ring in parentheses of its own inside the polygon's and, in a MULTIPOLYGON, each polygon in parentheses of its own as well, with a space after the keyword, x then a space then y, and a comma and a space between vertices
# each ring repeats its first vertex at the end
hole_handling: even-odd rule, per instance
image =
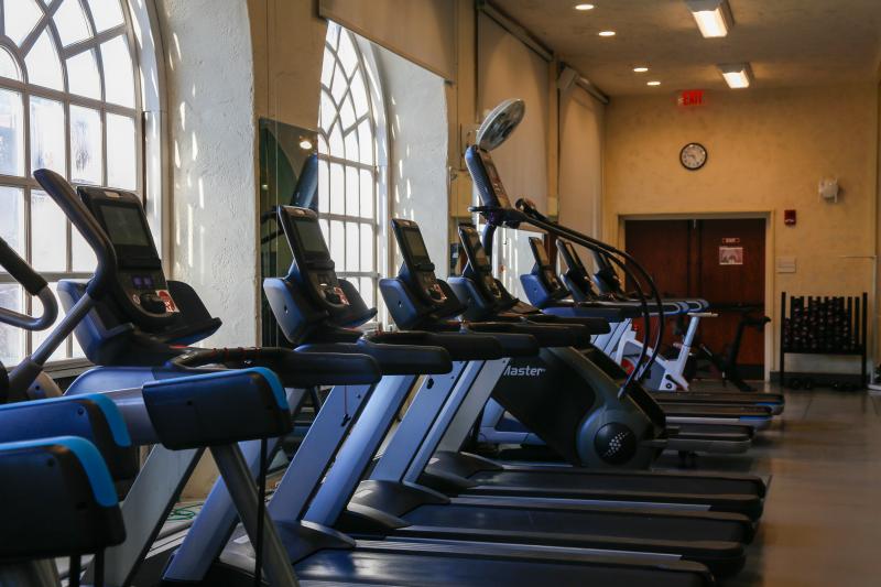
MULTIPOLYGON (((62 7, 65 0, 51 0, 48 4, 46 4, 43 0, 34 0, 34 6, 36 6, 41 11, 42 15, 37 20, 34 28, 31 32, 25 36, 22 41, 21 47, 15 45, 15 43, 6 36, 6 34, 0 34, 0 45, 2 48, 7 50, 12 57, 15 59, 15 64, 19 68, 19 73, 22 77, 22 80, 15 80, 7 77, 0 77, 0 89, 15 91, 21 95, 22 100, 22 129, 23 129, 23 175, 15 176, 15 175, 7 175, 0 174, 0 186, 2 187, 13 187, 15 189, 21 191, 21 205, 23 208, 23 233, 21 238, 23 240, 24 247, 21 252, 23 252, 23 258, 25 261, 31 263, 33 261, 33 215, 32 215, 32 203, 33 203, 33 192, 42 192, 40 184, 36 180, 33 178, 33 172, 31 171, 31 98, 39 97, 50 99, 56 102, 59 102, 63 108, 64 112, 64 144, 65 144, 65 177, 69 178, 73 173, 73 152, 70 149, 70 107, 78 106, 83 108, 88 108, 90 110, 95 110, 99 112, 100 116, 100 133, 101 133, 101 180, 98 185, 108 186, 108 150, 107 150, 107 115, 118 115, 126 118, 131 119, 134 122, 134 156, 135 156, 135 166, 134 166, 134 177, 135 177, 135 185, 134 188, 127 188, 131 192, 138 194, 142 200, 145 203, 145 175, 144 175, 144 153, 150 149, 145 144, 145 132, 144 132, 144 106, 143 106, 143 88, 142 88, 142 58, 139 53, 139 42, 135 34, 135 28, 138 23, 134 22, 135 13, 139 10, 137 3, 132 4, 129 0, 119 0, 120 9, 122 12, 122 23, 106 31, 93 33, 93 31, 97 31, 95 25, 95 19, 93 17, 91 7, 87 1, 78 0, 80 10, 83 11, 85 19, 87 21, 87 25, 89 28, 90 36, 89 39, 78 41, 76 43, 72 43, 66 47, 61 42, 61 35, 58 33, 57 25, 54 20, 55 13, 62 7), (63 80, 63 90, 46 88, 43 86, 37 86, 31 83, 28 67, 25 64, 25 56, 28 52, 32 48, 34 43, 41 37, 41 35, 45 32, 52 39, 54 44, 54 48, 57 53, 57 58, 61 63, 62 69, 62 80, 63 80), (100 46, 101 44, 117 39, 119 36, 123 36, 126 39, 126 44, 129 52, 129 58, 131 59, 132 64, 132 89, 134 94, 134 107, 126 107, 112 102, 106 101, 107 97, 107 84, 106 84, 106 72, 104 69, 104 57, 101 54, 100 46), (96 61, 96 66, 98 69, 98 78, 100 83, 100 99, 89 98, 85 96, 79 96, 76 94, 72 94, 69 90, 69 80, 68 80, 68 66, 67 59, 75 55, 79 55, 84 52, 93 51, 94 57, 96 61)), ((137 14, 138 18, 141 14, 137 14)), ((150 15, 148 15, 149 18, 150 15)), ((149 18, 152 21, 152 18, 149 18)), ((0 2, 0 31, 6 31, 6 14, 4 14, 4 6, 0 2)), ((78 185, 96 185, 96 184, 84 184, 84 183, 74 183, 74 186, 78 185)), ((108 186, 115 187, 115 186, 108 186)), ((50 284, 57 283, 59 280, 88 280, 93 276, 91 271, 74 271, 73 270, 73 227, 70 221, 65 219, 65 270, 63 271, 41 271, 41 275, 50 284)), ((4 271, 0 271, 0 285, 8 285, 17 283, 9 273, 4 271)), ((23 290, 21 292, 21 308, 26 313, 32 313, 34 311, 34 297, 29 295, 23 290)), ((63 316, 63 312, 59 312, 59 318, 63 316)), ((28 356, 39 346, 35 337, 39 336, 35 333, 21 333, 20 336, 23 337, 24 346, 22 349, 23 356, 28 356)), ((50 362, 50 365, 55 366, 56 368, 70 368, 77 365, 85 365, 88 361, 83 356, 75 357, 74 356, 74 341, 73 336, 68 337, 64 345, 59 347, 58 351, 63 352, 64 358, 56 359, 50 362)))

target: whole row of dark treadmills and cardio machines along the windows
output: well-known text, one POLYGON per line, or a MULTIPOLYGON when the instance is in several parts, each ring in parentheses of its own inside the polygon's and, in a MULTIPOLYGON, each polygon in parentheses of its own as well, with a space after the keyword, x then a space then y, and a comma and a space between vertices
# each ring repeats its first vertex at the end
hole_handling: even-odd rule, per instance
MULTIPOLYGON (((664 450, 742 452, 782 398, 652 393, 649 350, 630 371, 601 350, 622 324, 699 301, 600 296, 589 279, 576 292, 577 261, 561 279, 537 242, 523 283, 541 303, 505 291, 491 269, 500 226, 600 244, 512 206, 492 146, 466 153, 485 227, 459 227, 460 276, 437 279, 418 226, 392 221, 403 262, 380 291, 393 330, 363 328, 377 309, 337 276, 317 215, 280 207, 294 261, 263 291, 284 347, 197 347, 220 320, 164 275, 140 198, 35 172, 98 267, 58 284, 64 317, 0 381, 0 585, 707 586, 738 573, 766 480, 652 465, 664 450), (62 393, 43 366, 70 334, 96 367, 62 393), (327 394, 286 457, 316 389, 327 394), (464 450, 476 435, 548 458, 464 450), (206 450, 220 476, 172 528, 206 450)), ((2 241, 0 262, 43 307, 0 322, 48 328, 46 282, 2 241)))

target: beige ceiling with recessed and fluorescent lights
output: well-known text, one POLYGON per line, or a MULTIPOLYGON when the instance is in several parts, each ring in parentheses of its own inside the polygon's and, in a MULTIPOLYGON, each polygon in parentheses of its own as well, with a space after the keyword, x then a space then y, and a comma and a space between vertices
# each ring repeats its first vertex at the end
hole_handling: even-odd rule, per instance
POLYGON ((881 0, 729 0, 735 26, 722 39, 700 36, 683 0, 591 0, 585 12, 576 3, 494 6, 611 96, 724 89, 720 63, 752 64, 757 88, 870 81, 879 70, 881 0), (634 74, 638 65, 651 69, 634 74))

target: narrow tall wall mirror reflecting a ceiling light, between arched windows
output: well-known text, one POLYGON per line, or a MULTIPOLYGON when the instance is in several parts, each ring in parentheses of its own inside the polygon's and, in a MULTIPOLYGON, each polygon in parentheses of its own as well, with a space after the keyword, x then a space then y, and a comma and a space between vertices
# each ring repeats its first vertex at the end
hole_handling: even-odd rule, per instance
MULTIPOLYGON (((260 119, 260 281, 287 274, 291 250, 275 219, 278 206, 318 209, 318 135, 312 129, 260 119)), ((261 344, 284 345, 261 295, 261 344)))

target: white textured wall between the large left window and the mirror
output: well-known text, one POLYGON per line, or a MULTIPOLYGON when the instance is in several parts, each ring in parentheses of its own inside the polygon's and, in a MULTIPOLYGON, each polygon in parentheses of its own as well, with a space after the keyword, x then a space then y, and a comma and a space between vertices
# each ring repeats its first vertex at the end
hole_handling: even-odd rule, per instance
POLYGON ((172 276, 224 320, 206 344, 257 343, 257 178, 248 10, 159 0, 172 164, 172 276), (211 18, 206 19, 205 14, 211 18))

